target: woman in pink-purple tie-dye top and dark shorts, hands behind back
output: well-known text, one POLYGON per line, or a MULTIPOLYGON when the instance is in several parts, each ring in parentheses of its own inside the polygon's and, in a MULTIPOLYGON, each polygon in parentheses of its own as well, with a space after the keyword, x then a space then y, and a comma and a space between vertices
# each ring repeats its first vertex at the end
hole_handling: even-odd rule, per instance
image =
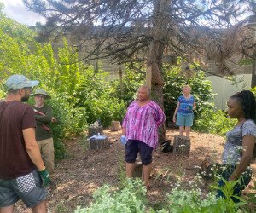
POLYGON ((158 128, 166 116, 161 108, 150 100, 150 89, 143 85, 137 90, 137 100, 129 105, 124 122, 126 176, 132 177, 137 153, 143 163, 143 182, 149 188, 152 152, 158 143, 158 128))

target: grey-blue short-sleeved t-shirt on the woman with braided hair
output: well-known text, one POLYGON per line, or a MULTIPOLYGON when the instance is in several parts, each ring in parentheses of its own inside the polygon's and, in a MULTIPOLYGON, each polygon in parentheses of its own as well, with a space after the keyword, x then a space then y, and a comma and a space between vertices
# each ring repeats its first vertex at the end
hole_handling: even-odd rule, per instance
POLYGON ((227 139, 222 155, 223 164, 236 165, 236 163, 241 159, 241 138, 245 135, 253 135, 256 137, 256 125, 254 124, 253 120, 247 120, 243 124, 237 125, 232 130, 227 132, 227 139))

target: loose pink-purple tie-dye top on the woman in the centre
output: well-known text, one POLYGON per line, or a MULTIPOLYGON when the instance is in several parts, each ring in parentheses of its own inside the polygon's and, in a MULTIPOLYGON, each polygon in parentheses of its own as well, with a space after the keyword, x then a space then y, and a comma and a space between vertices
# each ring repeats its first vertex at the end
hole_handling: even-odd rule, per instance
POLYGON ((127 109, 122 126, 128 140, 143 141, 155 148, 158 142, 158 128, 165 120, 164 112, 154 101, 149 101, 143 107, 133 101, 127 109))

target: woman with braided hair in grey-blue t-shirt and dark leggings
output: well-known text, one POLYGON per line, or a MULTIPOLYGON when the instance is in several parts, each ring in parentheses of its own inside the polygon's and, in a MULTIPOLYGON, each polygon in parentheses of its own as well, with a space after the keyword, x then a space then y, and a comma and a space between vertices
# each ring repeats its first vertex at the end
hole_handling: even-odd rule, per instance
MULTIPOLYGON (((226 134, 222 156, 224 170, 221 174, 222 180, 218 182, 218 185, 223 187, 224 180, 239 180, 233 188, 233 195, 240 196, 241 191, 247 187, 252 177, 250 162, 253 158, 256 137, 256 102, 251 91, 243 90, 232 95, 227 105, 229 117, 236 118, 237 123, 226 134)), ((224 193, 218 190, 218 196, 224 197, 224 193)), ((234 202, 239 202, 239 199, 235 197, 232 197, 232 199, 234 202)))

